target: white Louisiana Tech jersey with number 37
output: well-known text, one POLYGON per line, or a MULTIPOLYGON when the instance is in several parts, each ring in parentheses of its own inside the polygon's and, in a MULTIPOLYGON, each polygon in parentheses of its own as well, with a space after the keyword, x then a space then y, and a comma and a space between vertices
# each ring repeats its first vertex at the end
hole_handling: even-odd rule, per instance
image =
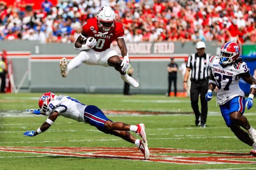
POLYGON ((230 64, 223 68, 218 56, 212 56, 209 59, 209 67, 218 87, 217 102, 218 105, 224 105, 236 96, 244 96, 244 92, 239 88, 240 75, 247 73, 245 62, 230 64))

